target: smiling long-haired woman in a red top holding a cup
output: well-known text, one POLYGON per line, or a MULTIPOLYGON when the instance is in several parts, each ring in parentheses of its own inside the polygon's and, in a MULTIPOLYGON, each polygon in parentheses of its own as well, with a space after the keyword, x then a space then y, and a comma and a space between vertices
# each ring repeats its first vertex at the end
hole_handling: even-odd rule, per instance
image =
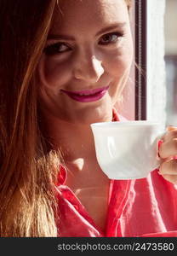
POLYGON ((122 119, 129 4, 0 1, 1 236, 177 236, 177 129, 147 178, 109 180, 95 156, 90 124, 122 119))

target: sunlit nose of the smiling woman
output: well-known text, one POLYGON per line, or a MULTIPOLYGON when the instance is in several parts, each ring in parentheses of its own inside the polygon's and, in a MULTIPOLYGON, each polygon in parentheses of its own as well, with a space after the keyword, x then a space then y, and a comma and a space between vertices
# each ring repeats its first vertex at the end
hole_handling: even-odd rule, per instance
POLYGON ((104 67, 100 60, 94 55, 84 56, 77 60, 74 68, 76 79, 84 80, 89 83, 96 83, 104 73, 104 67))

